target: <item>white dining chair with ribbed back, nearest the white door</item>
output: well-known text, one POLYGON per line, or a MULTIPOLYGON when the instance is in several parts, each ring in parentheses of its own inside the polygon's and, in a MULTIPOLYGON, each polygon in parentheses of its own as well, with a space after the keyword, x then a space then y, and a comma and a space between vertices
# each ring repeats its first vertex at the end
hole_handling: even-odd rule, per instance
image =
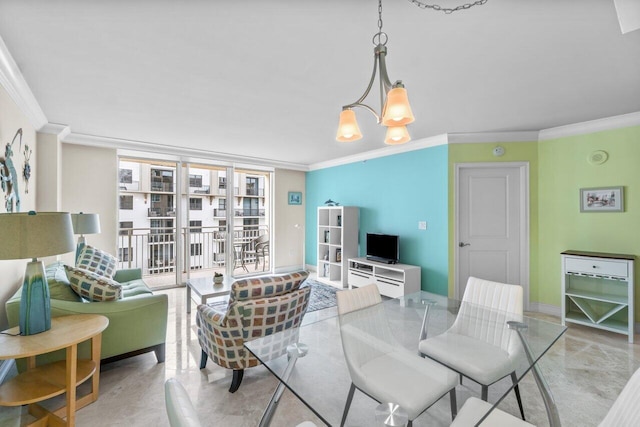
MULTIPOLYGON (((489 385, 511 376, 516 383, 515 361, 522 351, 508 320, 522 318, 522 287, 469 277, 462 305, 449 330, 423 339, 418 349, 423 356, 442 363, 482 386, 482 400, 487 400, 489 385)), ((520 415, 524 410, 520 389, 514 387, 520 415)))

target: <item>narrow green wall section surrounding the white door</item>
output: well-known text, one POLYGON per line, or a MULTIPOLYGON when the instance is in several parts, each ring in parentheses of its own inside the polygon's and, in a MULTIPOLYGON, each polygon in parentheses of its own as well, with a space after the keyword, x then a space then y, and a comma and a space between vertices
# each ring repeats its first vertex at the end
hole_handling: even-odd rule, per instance
MULTIPOLYGON (((528 162, 529 163, 529 222, 530 222, 530 273, 529 287, 531 301, 537 301, 538 283, 538 143, 533 142, 501 142, 449 144, 449 295, 454 295, 455 276, 455 165, 456 163, 487 162, 528 162), (493 149, 500 145, 505 149, 501 157, 493 155, 493 149)), ((560 305, 558 299, 557 305, 560 305)))

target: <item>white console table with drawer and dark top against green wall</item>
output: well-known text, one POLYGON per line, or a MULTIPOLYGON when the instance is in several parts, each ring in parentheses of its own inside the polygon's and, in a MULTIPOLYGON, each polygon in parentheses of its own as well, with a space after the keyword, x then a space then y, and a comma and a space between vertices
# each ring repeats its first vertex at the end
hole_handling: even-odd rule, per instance
POLYGON ((564 251, 562 324, 617 332, 633 342, 633 255, 564 251))

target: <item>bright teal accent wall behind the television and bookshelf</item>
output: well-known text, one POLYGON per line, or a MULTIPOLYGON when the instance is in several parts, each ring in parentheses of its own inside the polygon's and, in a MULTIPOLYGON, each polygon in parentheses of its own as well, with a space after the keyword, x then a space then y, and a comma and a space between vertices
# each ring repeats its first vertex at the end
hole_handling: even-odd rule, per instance
POLYGON ((446 145, 307 172, 305 262, 317 264, 317 207, 332 199, 360 208, 360 256, 367 233, 397 234, 400 262, 421 267, 422 289, 447 295, 447 172, 446 145))

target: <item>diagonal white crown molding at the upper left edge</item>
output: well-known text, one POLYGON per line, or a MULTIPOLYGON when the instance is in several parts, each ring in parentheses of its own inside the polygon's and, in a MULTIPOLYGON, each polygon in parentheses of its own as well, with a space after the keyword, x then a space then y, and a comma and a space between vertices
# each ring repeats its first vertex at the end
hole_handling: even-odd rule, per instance
POLYGON ((40 104, 33 96, 31 88, 27 84, 18 64, 13 60, 13 56, 0 37, 0 85, 4 87, 13 102, 16 103, 20 111, 27 116, 27 119, 36 130, 47 124, 47 117, 44 115, 40 104))

